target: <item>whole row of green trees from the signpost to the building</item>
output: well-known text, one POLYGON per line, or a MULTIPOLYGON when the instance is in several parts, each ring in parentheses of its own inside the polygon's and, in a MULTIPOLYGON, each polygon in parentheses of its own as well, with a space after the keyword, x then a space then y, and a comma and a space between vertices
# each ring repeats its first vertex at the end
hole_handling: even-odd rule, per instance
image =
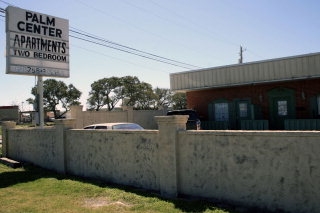
MULTIPOLYGON (((62 81, 47 79, 43 82, 43 99, 46 111, 54 112, 58 118, 57 106, 62 106, 65 114, 71 105, 80 105, 81 92, 73 85, 66 85, 62 81)), ((27 102, 35 106, 37 110, 37 87, 33 87, 27 102)), ((170 89, 156 87, 141 82, 136 76, 102 78, 91 84, 91 91, 87 99, 88 109, 99 111, 106 107, 113 110, 119 103, 132 106, 137 110, 158 110, 159 108, 173 107, 174 109, 186 108, 186 96, 182 93, 173 94, 170 89)))

